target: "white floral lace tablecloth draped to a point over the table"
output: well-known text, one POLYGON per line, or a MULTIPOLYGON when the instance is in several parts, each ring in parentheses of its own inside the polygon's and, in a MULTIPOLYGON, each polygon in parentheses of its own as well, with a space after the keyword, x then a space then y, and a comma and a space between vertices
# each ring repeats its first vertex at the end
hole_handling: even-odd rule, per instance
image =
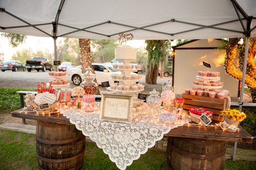
POLYGON ((190 121, 177 121, 174 125, 166 126, 158 120, 137 117, 132 120, 132 124, 124 124, 100 121, 99 113, 85 113, 76 108, 68 108, 60 113, 69 118, 70 123, 76 125, 85 136, 95 141, 119 169, 130 166, 133 160, 139 159, 141 154, 146 153, 172 128, 190 121))

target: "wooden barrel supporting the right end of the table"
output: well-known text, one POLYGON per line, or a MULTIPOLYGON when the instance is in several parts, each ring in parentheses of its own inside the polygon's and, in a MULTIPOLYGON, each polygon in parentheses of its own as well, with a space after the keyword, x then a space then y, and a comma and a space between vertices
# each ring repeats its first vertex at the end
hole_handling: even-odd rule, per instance
POLYGON ((168 169, 224 169, 225 141, 169 137, 168 169))

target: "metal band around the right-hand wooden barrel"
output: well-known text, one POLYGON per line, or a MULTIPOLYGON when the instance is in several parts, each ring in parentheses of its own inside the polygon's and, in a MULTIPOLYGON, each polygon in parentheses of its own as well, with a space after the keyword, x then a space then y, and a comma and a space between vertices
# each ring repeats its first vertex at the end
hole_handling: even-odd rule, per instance
POLYGON ((189 158, 195 158, 195 159, 201 159, 201 160, 205 160, 205 159, 215 159, 215 158, 219 158, 219 157, 223 157, 226 154, 226 148, 224 149, 223 152, 220 153, 215 153, 215 154, 208 154, 208 155, 200 155, 200 154, 195 154, 195 153, 190 153, 187 151, 182 151, 179 148, 171 145, 171 149, 185 157, 189 157, 189 158))

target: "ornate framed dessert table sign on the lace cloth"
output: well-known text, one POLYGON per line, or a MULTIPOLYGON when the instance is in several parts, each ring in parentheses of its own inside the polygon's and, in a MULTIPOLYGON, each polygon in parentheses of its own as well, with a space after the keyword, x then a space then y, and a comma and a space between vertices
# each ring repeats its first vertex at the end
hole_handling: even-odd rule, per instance
POLYGON ((102 94, 99 120, 132 123, 132 95, 102 94))

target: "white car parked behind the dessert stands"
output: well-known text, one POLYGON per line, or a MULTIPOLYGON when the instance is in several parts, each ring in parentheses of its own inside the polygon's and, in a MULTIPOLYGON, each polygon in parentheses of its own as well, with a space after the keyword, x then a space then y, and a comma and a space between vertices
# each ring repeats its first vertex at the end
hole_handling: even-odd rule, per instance
MULTIPOLYGON (((112 65, 102 64, 102 63, 92 63, 93 69, 95 70, 97 83, 99 85, 104 81, 110 81, 113 83, 111 79, 112 73, 121 74, 120 71, 116 71, 113 69, 112 65)), ((82 83, 82 66, 79 65, 77 67, 70 67, 66 70, 66 74, 68 75, 68 79, 73 82, 75 85, 80 85, 82 83)), ((136 74, 136 73, 132 73, 136 74)))

